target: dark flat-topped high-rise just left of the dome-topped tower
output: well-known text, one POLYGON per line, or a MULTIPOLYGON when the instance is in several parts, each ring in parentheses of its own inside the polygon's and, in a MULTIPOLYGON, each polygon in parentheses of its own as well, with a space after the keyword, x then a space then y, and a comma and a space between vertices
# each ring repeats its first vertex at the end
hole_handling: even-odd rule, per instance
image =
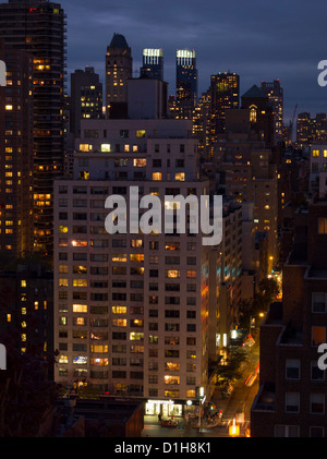
POLYGON ((81 120, 102 118, 102 83, 93 67, 75 70, 71 74, 70 100, 71 132, 75 137, 81 136, 81 120))

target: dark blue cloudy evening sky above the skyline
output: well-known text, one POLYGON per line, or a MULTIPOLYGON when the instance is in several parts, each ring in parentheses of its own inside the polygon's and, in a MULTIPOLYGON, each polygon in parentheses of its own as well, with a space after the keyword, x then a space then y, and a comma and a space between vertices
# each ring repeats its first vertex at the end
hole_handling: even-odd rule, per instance
MULTIPOLYGON (((174 94, 175 49, 195 49, 199 92, 210 75, 237 72, 241 94, 280 80, 286 119, 327 112, 317 64, 327 59, 326 0, 62 0, 68 14, 68 72, 95 67, 101 80, 113 33, 125 36, 138 75, 142 49, 165 52, 165 80, 174 94)), ((68 75, 68 76, 69 76, 68 75)))

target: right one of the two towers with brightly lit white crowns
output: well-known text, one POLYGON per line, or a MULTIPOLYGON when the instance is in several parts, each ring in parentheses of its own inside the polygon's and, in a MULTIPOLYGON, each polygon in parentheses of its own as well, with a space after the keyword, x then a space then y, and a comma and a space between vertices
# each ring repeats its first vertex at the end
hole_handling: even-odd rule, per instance
POLYGON ((194 50, 177 50, 175 101, 179 118, 192 119, 192 112, 197 102, 197 69, 194 50))

